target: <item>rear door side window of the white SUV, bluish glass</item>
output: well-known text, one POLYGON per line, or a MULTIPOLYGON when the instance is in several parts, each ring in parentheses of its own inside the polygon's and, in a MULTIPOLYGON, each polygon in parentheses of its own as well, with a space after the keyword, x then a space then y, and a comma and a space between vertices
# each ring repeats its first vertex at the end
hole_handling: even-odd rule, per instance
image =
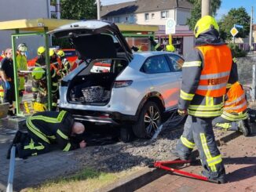
POLYGON ((145 61, 141 71, 146 74, 159 74, 170 72, 170 67, 165 56, 152 56, 145 61))

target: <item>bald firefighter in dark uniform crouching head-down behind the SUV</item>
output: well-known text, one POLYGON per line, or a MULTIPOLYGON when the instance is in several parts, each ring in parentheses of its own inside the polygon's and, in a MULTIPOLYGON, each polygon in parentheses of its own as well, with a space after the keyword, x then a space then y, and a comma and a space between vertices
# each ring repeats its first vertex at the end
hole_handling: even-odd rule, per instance
POLYGON ((85 140, 75 143, 72 138, 79 137, 85 131, 84 125, 74 121, 71 114, 65 110, 60 112, 44 111, 27 118, 27 133, 18 131, 9 147, 16 145, 16 157, 27 158, 45 154, 51 150, 52 144, 63 151, 86 147, 85 140))

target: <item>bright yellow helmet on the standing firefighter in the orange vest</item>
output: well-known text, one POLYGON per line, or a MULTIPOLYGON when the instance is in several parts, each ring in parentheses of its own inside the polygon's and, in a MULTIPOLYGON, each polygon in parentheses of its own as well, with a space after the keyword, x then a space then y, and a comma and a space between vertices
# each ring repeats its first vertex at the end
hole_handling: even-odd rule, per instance
POLYGON ((203 34, 204 32, 207 32, 210 29, 215 29, 219 31, 219 27, 216 20, 212 16, 203 16, 196 22, 196 26, 194 29, 195 37, 198 38, 199 34, 203 34))

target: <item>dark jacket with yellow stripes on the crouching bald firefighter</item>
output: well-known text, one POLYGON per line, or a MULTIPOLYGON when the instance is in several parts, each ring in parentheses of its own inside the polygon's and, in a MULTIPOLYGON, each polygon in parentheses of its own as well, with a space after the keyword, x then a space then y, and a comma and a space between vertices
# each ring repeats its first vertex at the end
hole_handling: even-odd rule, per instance
POLYGON ((71 143, 74 118, 65 110, 39 112, 27 118, 27 129, 46 143, 57 143, 64 151, 74 150, 79 144, 71 143))

